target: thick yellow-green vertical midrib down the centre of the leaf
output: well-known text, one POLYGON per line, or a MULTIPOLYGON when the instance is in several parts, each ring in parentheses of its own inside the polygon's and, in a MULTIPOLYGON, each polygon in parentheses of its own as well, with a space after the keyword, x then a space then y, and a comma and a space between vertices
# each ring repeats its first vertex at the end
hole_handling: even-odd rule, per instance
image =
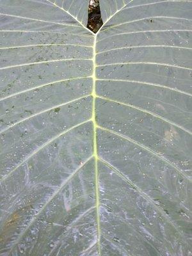
POLYGON ((94 37, 93 42, 93 89, 92 89, 92 122, 93 122, 93 157, 95 161, 95 206, 96 206, 96 218, 97 218, 97 246, 98 253, 100 254, 100 213, 99 213, 99 170, 98 170, 98 154, 97 154, 97 121, 95 111, 95 101, 97 99, 96 93, 96 40, 94 37))

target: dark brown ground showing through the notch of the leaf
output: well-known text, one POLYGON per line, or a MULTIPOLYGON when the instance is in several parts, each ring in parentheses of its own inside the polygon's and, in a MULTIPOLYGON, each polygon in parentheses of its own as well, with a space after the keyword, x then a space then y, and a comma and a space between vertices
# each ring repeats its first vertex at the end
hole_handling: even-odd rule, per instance
POLYGON ((88 8, 88 24, 87 28, 97 33, 102 26, 102 19, 100 15, 99 0, 90 0, 88 8))

